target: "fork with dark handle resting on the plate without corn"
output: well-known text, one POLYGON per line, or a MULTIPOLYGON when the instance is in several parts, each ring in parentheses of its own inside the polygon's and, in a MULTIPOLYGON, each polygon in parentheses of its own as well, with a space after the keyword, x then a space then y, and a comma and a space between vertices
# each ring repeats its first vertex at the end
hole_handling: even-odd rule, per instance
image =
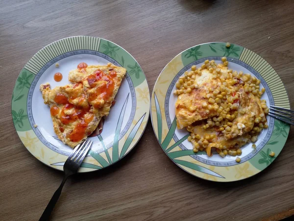
POLYGON ((63 165, 64 176, 59 188, 55 191, 52 198, 50 199, 46 209, 44 210, 39 221, 48 221, 50 214, 61 194, 63 185, 67 178, 75 173, 80 168, 86 154, 88 153, 93 141, 86 139, 83 143, 79 144, 73 149, 71 155, 67 158, 63 165))

